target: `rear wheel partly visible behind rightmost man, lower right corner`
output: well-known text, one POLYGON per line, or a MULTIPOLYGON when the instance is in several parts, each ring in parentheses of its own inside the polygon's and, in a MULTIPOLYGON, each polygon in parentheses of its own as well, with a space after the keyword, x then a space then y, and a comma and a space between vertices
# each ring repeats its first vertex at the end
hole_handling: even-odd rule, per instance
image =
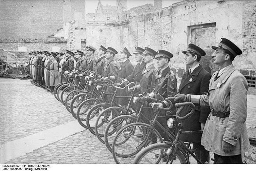
POLYGON ((245 163, 255 164, 256 163, 256 138, 249 138, 250 148, 245 152, 245 163))

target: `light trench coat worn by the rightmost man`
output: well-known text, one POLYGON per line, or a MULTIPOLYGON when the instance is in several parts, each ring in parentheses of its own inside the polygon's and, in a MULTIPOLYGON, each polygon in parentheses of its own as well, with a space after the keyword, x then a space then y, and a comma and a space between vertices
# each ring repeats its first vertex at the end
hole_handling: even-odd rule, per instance
MULTIPOLYGON (((201 95, 200 106, 209 105, 219 112, 230 112, 229 117, 208 116, 201 144, 208 151, 221 156, 243 154, 250 146, 245 120, 247 117, 247 90, 245 77, 234 66, 216 81, 215 72, 209 84, 208 95, 201 95), (234 145, 231 152, 224 152, 222 140, 234 145)), ((243 155, 242 155, 243 157, 243 155)))

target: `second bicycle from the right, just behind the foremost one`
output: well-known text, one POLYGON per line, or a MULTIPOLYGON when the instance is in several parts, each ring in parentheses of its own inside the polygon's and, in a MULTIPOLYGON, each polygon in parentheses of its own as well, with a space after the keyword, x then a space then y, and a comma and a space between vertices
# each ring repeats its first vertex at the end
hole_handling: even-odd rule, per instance
MULTIPOLYGON (((168 101, 168 103, 170 104, 168 108, 156 108, 155 117, 150 124, 132 123, 124 126, 117 132, 112 143, 112 156, 117 164, 120 162, 129 162, 129 160, 131 160, 142 148, 148 145, 149 140, 153 140, 155 143, 163 142, 155 125, 158 125, 169 137, 171 137, 171 139, 174 139, 172 131, 166 125, 161 125, 157 121, 158 118, 174 117, 172 115, 160 116, 160 110, 171 110, 172 103, 170 101, 168 101), (139 138, 138 135, 141 132, 142 137, 139 138), (126 158, 126 160, 123 160, 122 158, 126 158)), ((194 111, 192 110, 191 112, 194 111)))

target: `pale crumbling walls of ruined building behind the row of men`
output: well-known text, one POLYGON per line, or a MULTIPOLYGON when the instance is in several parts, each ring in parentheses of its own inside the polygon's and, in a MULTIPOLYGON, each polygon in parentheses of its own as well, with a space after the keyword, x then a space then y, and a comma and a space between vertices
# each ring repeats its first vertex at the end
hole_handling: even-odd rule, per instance
MULTIPOLYGON (((60 41, 54 44, 60 50, 83 49, 86 44, 111 46, 117 50, 124 46, 131 51, 135 46, 168 50, 174 54, 170 65, 179 79, 186 70, 181 51, 189 43, 206 51, 201 63, 211 72, 215 67, 210 63, 211 46, 225 37, 242 49, 243 54, 235 58, 234 65, 246 76, 249 85, 255 87, 256 1, 189 0, 162 8, 162 0, 155 0, 154 4, 129 10, 127 3, 129 0, 117 0, 116 6, 103 6, 98 1, 95 13, 86 13, 86 0, 62 0, 56 5, 62 11, 62 16, 59 14, 62 21, 54 20, 54 16, 55 30, 44 36, 49 42, 60 41)), ((16 45, 3 41, 0 46, 18 50, 16 45)), ((26 46, 28 51, 39 50, 26 46)), ((40 50, 52 48, 46 46, 40 50)))

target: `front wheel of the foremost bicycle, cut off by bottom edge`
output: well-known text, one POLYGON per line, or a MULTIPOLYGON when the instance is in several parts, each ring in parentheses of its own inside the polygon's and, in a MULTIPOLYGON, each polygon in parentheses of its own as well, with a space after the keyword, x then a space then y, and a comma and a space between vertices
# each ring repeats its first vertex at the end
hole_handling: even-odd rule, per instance
MULTIPOLYGON (((172 143, 173 144, 173 143, 172 143)), ((174 145, 174 144, 173 144, 174 145)), ((166 143, 157 143, 157 144, 152 144, 144 149, 142 149, 134 158, 133 164, 159 164, 160 162, 163 162, 164 164, 167 164, 169 162, 167 155, 165 155, 165 152, 168 150, 168 148, 171 147, 171 144, 166 144, 166 143), (155 150, 159 150, 158 152, 153 152, 155 150), (155 158, 157 158, 155 161, 155 158), (164 158, 164 159, 162 159, 164 158), (152 159, 152 160, 150 160, 152 159), (152 161, 152 162, 151 162, 152 161)), ((178 159, 177 161, 175 160, 175 163, 177 164, 187 164, 186 157, 184 156, 183 153, 181 153, 180 149, 178 148, 174 159, 178 159)), ((170 163, 170 164, 175 164, 175 163, 170 163)))

